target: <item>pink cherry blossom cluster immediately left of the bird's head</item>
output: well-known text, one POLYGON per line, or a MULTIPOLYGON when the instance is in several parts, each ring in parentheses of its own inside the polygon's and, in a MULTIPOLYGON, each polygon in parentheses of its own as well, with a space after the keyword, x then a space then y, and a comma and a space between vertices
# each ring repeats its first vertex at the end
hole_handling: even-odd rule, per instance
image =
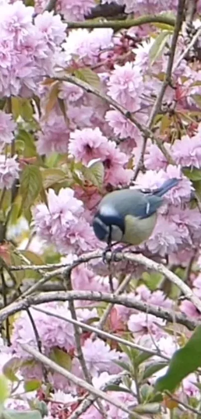
POLYGON ((95 249, 97 239, 83 216, 83 204, 70 188, 61 188, 58 195, 48 190, 48 207, 38 204, 33 209, 34 230, 43 240, 56 246, 62 254, 95 249))

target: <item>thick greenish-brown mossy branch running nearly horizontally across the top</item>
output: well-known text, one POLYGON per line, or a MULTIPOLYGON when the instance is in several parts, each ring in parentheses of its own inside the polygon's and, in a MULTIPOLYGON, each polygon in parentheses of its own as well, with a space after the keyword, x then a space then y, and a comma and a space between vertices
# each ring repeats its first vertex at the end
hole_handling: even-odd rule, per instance
POLYGON ((69 22, 65 21, 68 29, 75 28, 97 28, 97 27, 110 27, 114 30, 129 29, 132 26, 140 26, 146 23, 164 23, 170 26, 175 25, 175 18, 165 16, 163 14, 145 14, 144 16, 137 17, 136 19, 126 20, 104 20, 104 21, 93 21, 84 20, 83 22, 69 22))

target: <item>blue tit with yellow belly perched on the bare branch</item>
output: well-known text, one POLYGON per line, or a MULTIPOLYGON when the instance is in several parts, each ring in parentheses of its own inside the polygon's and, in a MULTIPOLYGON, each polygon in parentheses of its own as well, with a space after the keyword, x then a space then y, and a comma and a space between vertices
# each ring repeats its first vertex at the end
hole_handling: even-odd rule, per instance
POLYGON ((168 179, 160 188, 149 193, 135 189, 108 193, 101 200, 93 219, 96 237, 109 246, 112 242, 137 246, 147 240, 156 225, 163 195, 178 182, 179 179, 168 179))

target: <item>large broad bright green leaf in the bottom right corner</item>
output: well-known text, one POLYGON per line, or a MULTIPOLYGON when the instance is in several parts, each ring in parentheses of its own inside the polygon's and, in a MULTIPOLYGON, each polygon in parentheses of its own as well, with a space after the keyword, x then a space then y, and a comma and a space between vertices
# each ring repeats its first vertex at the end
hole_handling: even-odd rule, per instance
POLYGON ((170 361, 167 373, 155 384, 155 392, 168 390, 173 393, 181 381, 201 367, 201 326, 195 329, 187 344, 176 351, 170 361))

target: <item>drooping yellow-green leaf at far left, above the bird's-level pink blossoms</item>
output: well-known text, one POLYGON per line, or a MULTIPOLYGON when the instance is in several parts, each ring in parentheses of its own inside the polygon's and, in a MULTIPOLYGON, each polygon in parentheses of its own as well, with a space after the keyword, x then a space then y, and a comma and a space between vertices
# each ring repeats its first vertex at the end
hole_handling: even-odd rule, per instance
POLYGON ((27 165, 20 179, 19 193, 22 196, 22 208, 29 209, 40 193, 42 176, 37 166, 27 165))

